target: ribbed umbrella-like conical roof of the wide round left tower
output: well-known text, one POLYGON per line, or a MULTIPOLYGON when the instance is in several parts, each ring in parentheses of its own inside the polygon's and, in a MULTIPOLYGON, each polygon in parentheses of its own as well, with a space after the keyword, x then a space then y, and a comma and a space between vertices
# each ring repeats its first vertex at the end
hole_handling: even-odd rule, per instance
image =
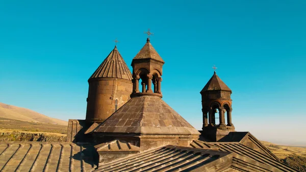
POLYGON ((94 78, 119 78, 132 81, 132 73, 117 50, 117 46, 94 71, 89 80, 94 78))

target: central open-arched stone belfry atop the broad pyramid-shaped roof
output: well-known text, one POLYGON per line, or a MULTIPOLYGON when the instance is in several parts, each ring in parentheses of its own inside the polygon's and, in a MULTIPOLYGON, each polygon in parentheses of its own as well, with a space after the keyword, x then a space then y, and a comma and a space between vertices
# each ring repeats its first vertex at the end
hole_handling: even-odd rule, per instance
POLYGON ((133 93, 131 97, 144 94, 162 97, 161 82, 164 63, 151 45, 150 38, 147 38, 145 45, 132 61, 133 93))

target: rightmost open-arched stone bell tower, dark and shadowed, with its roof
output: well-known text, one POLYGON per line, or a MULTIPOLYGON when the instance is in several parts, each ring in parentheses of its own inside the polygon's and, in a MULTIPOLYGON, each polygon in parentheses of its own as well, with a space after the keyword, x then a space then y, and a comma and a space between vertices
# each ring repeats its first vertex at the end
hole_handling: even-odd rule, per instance
MULTIPOLYGON (((216 67, 213 68, 216 69, 216 67)), ((232 123, 232 90, 217 76, 216 71, 200 94, 202 97, 203 134, 217 141, 228 132, 235 131, 232 123), (219 113, 219 120, 217 120, 216 113, 219 113)))

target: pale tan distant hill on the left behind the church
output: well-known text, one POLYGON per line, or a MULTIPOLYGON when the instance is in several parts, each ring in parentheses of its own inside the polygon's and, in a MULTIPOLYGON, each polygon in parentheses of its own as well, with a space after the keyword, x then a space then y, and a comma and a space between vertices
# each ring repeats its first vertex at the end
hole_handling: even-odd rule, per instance
POLYGON ((64 126, 68 125, 67 121, 48 117, 30 109, 7 105, 4 103, 0 103, 0 117, 24 121, 44 122, 64 126))

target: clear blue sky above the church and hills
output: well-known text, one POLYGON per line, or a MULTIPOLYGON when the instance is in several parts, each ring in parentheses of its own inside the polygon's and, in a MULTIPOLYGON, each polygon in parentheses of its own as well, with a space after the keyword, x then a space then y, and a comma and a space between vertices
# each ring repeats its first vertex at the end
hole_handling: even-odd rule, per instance
POLYGON ((87 80, 113 40, 130 67, 150 28, 166 62, 163 100, 194 127, 215 64, 233 90, 237 131, 306 144, 305 9, 302 0, 1 1, 0 102, 84 119, 87 80))

